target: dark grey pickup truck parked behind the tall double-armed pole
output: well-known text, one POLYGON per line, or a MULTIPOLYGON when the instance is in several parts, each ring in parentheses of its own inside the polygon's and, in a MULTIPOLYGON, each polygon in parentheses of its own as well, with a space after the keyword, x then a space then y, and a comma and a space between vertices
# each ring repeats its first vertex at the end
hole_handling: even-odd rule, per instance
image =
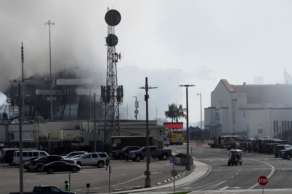
MULTIPOLYGON (((146 156, 146 147, 142 147, 139 150, 136 151, 130 151, 129 152, 129 159, 132 161, 137 161, 139 162, 140 160, 144 159, 146 156)), ((163 149, 163 150, 158 150, 156 146, 149 146, 149 155, 152 158, 158 158, 159 160, 166 160, 167 157, 171 156, 171 149, 163 149)))

